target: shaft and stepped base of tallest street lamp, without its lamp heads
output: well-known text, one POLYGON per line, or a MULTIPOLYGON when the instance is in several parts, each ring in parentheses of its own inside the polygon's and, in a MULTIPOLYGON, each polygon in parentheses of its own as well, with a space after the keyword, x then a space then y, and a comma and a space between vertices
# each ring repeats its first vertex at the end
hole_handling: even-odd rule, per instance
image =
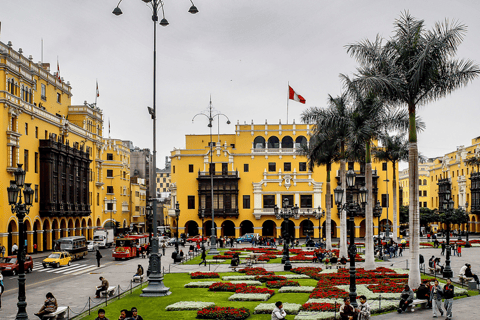
POLYGON ((150 252, 150 276, 148 277, 148 286, 142 290, 141 297, 160 297, 167 296, 171 294, 170 288, 165 287, 163 284, 163 275, 161 273, 161 261, 160 254, 158 251, 158 235, 157 235, 157 192, 156 192, 156 173, 157 173, 157 143, 156 143, 156 121, 157 121, 157 106, 156 106, 156 75, 157 75, 157 21, 158 21, 158 9, 160 1, 152 1, 153 8, 153 158, 152 158, 152 167, 150 168, 150 187, 153 185, 154 188, 151 190, 153 195, 150 194, 153 205, 153 239, 151 243, 151 252, 150 252), (152 174, 153 172, 153 174, 152 174), (152 179, 153 178, 153 179, 152 179))

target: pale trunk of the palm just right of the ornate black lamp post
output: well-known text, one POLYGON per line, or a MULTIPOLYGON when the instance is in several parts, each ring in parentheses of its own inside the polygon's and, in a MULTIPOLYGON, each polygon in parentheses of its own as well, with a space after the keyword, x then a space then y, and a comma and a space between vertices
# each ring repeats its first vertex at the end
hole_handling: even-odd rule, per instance
POLYGON ((366 144, 365 155, 365 180, 368 190, 367 206, 365 208, 365 270, 373 270, 375 254, 373 252, 373 188, 372 188, 372 159, 370 154, 370 141, 366 144))

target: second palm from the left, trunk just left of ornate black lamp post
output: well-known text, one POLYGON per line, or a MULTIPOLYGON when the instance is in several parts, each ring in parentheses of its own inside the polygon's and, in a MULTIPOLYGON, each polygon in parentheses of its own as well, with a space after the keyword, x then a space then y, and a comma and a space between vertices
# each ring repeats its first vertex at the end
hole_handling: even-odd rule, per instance
MULTIPOLYGON (((338 97, 328 96, 328 107, 309 108, 302 112, 302 121, 304 123, 315 123, 320 130, 329 128, 334 132, 334 137, 340 147, 340 181, 343 186, 346 183, 345 160, 347 159, 346 145, 348 139, 348 123, 351 119, 352 108, 347 104, 347 95, 345 93, 338 97)), ((346 196, 343 197, 344 201, 346 196)), ((347 252, 347 217, 344 212, 340 212, 340 257, 348 256, 347 252)))

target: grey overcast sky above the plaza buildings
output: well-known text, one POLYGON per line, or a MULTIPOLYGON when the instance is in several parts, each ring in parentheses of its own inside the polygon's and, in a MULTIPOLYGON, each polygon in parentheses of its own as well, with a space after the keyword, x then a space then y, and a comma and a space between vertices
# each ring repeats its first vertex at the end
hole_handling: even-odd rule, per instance
MULTIPOLYGON (((289 123, 310 106, 342 90, 338 75, 352 74, 345 45, 377 34, 392 35, 393 22, 408 10, 428 28, 444 19, 468 26, 458 58, 480 63, 480 1, 463 0, 165 0, 167 27, 157 27, 157 167, 186 134, 208 133, 195 114, 213 107, 226 114, 222 133, 240 123, 286 123, 287 83, 306 100, 289 103, 289 123)), ((0 0, 0 41, 49 62, 72 85, 72 103, 95 101, 104 112, 104 136, 152 149, 153 22, 141 0, 0 0)), ((421 107, 427 130, 419 151, 441 156, 480 136, 480 79, 450 97, 421 107)), ((214 133, 217 125, 214 125, 214 133)), ((402 167, 405 167, 403 165, 402 167)))

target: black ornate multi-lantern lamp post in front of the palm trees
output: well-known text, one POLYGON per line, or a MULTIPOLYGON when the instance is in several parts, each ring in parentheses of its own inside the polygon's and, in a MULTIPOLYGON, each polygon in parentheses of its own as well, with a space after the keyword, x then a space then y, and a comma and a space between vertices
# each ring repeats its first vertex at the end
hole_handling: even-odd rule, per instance
MULTIPOLYGON (((347 188, 350 190, 355 189, 355 172, 348 170, 347 172, 347 188)), ((355 212, 360 209, 360 205, 357 202, 348 201, 342 205, 343 202, 343 188, 337 186, 333 191, 335 195, 335 204, 338 210, 346 210, 350 217, 350 246, 348 247, 348 256, 350 258, 350 302, 352 306, 357 307, 357 287, 356 287, 356 268, 355 268, 355 256, 357 255, 357 246, 355 245, 355 212)), ((362 204, 367 203, 367 188, 361 187, 359 190, 360 202, 362 204)))

